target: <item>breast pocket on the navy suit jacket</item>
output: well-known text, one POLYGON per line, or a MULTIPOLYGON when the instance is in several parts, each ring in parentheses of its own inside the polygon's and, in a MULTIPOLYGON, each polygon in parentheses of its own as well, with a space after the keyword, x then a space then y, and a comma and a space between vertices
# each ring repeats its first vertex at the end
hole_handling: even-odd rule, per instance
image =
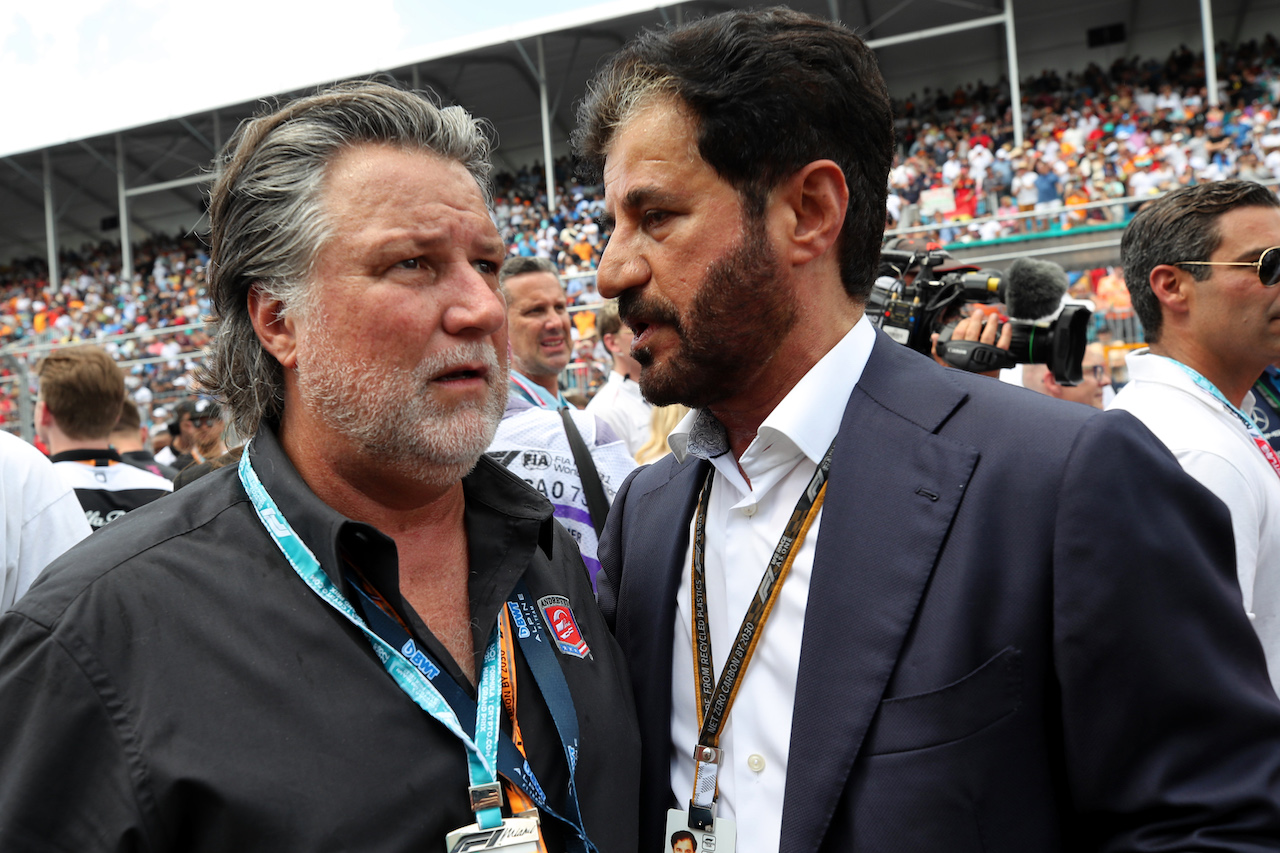
POLYGON ((1007 647, 943 688, 882 701, 861 754, 938 747, 1007 717, 1021 704, 1021 662, 1023 653, 1007 647))

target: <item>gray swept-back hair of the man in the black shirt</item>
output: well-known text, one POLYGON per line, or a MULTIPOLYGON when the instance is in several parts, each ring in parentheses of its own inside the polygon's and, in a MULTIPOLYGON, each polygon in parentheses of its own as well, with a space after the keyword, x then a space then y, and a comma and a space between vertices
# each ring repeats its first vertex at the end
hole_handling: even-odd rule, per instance
POLYGON ((329 238, 323 191, 329 164, 355 145, 425 150, 466 167, 492 204, 486 122, 461 106, 376 82, 343 83, 243 122, 219 155, 209 205, 214 338, 200 370, 242 435, 279 423, 284 370, 248 314, 253 287, 282 314, 306 306, 312 264, 329 238))

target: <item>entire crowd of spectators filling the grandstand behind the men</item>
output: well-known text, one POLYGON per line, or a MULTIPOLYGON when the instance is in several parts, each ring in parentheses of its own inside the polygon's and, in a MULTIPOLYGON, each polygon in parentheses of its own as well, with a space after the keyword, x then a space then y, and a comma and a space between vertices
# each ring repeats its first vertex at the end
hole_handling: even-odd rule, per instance
MULTIPOLYGON (((1220 47, 1220 106, 1204 88, 1203 56, 1185 46, 1165 60, 1117 59, 1107 69, 1044 70, 1023 82, 1024 142, 1015 143, 1007 81, 923 90, 895 102, 899 151, 890 175, 887 225, 933 225, 942 245, 1007 240, 1085 225, 1119 227, 1146 196, 1203 181, 1280 177, 1280 44, 1272 37, 1220 47), (1111 199, 1133 201, 1080 207, 1111 199), (1029 214, 1020 216, 1019 214, 1029 214), (1039 214, 1039 215, 1037 215, 1039 214)), ((511 255, 547 257, 564 278, 570 305, 603 297, 595 270, 608 241, 599 186, 575 181, 567 158, 553 164, 548 204, 540 163, 494 181, 494 215, 511 255)), ((0 348, 97 341, 125 365, 131 393, 155 420, 193 393, 206 342, 206 246, 200 237, 154 236, 122 277, 113 243, 65 251, 60 282, 40 259, 0 264, 0 348), (145 333, 119 339, 120 333, 145 333)), ((1076 296, 1101 311, 1128 311, 1119 270, 1073 273, 1076 296)), ((607 374, 594 315, 576 318, 575 387, 607 374)), ((18 365, 0 355, 0 428, 17 429, 18 365)))

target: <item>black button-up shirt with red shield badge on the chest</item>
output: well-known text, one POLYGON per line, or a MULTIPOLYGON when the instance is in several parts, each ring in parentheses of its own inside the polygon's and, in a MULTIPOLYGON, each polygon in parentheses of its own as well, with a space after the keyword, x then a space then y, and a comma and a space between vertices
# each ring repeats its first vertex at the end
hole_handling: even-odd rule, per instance
MULTIPOLYGON (((251 453, 329 578, 349 598, 340 555, 357 564, 474 695, 401 598, 394 543, 316 498, 270 430, 251 453)), ((558 656, 580 725, 584 822, 602 853, 631 853, 635 712, 576 547, 550 505, 490 460, 463 491, 476 654, 520 578, 534 598, 568 597, 591 649, 558 656)), ((559 811, 564 753, 522 654, 516 666, 529 762, 559 811)), ((443 850, 445 834, 474 820, 462 743, 292 570, 234 467, 91 537, 0 617, 6 853, 420 853, 443 850)), ((561 849, 561 826, 543 825, 561 849)))

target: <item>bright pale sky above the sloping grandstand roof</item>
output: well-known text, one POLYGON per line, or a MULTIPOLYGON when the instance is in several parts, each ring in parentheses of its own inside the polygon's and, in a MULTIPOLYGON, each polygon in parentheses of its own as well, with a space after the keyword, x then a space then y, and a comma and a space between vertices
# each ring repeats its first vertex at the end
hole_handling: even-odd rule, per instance
POLYGON ((0 155, 403 65, 599 0, 3 0, 0 155))

